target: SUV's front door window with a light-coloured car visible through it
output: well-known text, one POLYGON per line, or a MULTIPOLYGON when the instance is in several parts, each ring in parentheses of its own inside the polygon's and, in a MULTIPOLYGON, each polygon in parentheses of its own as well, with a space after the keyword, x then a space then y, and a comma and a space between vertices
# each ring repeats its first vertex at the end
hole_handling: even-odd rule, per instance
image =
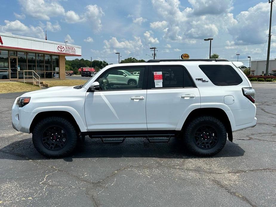
POLYGON ((108 70, 100 78, 101 90, 137 90, 142 89, 143 75, 135 76, 130 72, 139 71, 144 74, 144 67, 114 68, 108 70))

